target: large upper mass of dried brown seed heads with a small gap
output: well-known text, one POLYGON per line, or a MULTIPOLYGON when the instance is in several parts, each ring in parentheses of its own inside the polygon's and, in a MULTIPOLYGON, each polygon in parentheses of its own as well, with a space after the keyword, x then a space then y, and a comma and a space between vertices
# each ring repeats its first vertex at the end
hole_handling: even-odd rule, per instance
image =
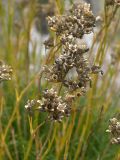
POLYGON ((52 82, 62 82, 64 86, 74 91, 86 88, 91 82, 91 74, 101 72, 99 66, 89 66, 85 53, 89 50, 80 39, 84 34, 91 33, 95 26, 95 17, 90 5, 80 3, 73 5, 69 14, 48 17, 49 27, 56 32, 62 44, 62 54, 56 58, 53 66, 44 67, 46 79, 52 82), (77 80, 66 79, 68 72, 75 68, 77 80))

